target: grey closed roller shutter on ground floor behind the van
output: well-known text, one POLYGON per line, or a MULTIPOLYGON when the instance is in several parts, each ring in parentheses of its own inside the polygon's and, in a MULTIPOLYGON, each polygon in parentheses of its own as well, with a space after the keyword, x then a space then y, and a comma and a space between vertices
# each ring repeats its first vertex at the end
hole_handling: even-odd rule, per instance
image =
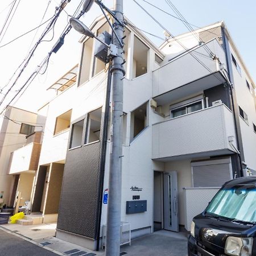
MULTIPOLYGON (((230 163, 216 163, 216 160, 198 162, 192 165, 193 187, 221 187, 232 179, 230 163)), ((223 162, 223 161, 221 161, 223 162)))

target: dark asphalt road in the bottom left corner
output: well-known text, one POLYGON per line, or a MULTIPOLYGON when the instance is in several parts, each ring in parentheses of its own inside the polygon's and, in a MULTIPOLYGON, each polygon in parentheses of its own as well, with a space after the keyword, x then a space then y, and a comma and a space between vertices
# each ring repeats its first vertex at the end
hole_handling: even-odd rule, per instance
POLYGON ((56 256, 43 247, 0 230, 0 256, 56 256))

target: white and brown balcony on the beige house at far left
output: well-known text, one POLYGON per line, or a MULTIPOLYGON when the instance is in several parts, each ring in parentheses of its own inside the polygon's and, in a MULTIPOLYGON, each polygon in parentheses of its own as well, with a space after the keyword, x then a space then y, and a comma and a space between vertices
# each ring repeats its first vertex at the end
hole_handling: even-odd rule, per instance
POLYGON ((30 143, 11 152, 9 174, 20 174, 38 169, 41 144, 30 143))

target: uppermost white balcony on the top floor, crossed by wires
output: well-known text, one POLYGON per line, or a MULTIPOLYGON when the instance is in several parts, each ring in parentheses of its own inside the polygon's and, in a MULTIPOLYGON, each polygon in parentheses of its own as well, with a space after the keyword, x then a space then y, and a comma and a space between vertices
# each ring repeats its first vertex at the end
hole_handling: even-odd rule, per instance
MULTIPOLYGON (((207 47, 225 64, 225 53, 216 39, 208 42, 207 47)), ((181 97, 212 88, 226 82, 220 71, 220 64, 209 57, 203 46, 194 48, 190 53, 176 57, 153 72, 152 97, 158 105, 164 105, 181 97)))

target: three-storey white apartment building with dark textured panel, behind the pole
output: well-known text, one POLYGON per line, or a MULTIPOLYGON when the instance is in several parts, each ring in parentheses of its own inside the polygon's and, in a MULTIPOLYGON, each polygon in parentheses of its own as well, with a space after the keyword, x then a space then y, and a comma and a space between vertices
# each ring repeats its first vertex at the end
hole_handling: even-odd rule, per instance
MULTIPOLYGON (((131 24, 129 22, 129 24, 131 24)), ((110 32, 104 18, 90 29, 110 32)), ((255 84, 224 22, 156 47, 125 28, 122 214, 131 236, 190 229, 227 180, 256 170, 255 84)), ((108 65, 83 37, 77 67, 49 89, 32 212, 96 250, 106 224, 108 65)))

